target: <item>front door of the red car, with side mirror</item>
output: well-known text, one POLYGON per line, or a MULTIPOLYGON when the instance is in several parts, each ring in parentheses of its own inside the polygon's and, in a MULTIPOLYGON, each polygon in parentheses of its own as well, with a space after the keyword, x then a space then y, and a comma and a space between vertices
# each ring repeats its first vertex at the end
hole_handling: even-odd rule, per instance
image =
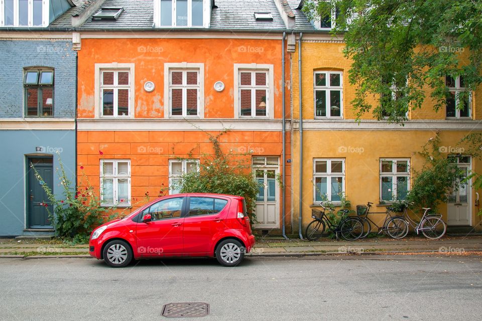
POLYGON ((183 253, 181 217, 184 197, 161 200, 145 209, 142 217, 150 214, 152 221, 137 224, 137 250, 143 257, 180 256, 183 253))

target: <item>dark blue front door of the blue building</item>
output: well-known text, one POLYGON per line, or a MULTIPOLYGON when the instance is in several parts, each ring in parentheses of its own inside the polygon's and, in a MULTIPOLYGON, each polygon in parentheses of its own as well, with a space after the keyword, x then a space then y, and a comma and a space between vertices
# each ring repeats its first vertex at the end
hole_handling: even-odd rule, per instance
POLYGON ((30 167, 31 164, 42 177, 43 184, 46 184, 50 190, 53 190, 54 180, 52 157, 27 158, 27 225, 31 229, 52 228, 47 209, 52 213, 53 206, 42 188, 41 183, 35 178, 35 172, 30 167))

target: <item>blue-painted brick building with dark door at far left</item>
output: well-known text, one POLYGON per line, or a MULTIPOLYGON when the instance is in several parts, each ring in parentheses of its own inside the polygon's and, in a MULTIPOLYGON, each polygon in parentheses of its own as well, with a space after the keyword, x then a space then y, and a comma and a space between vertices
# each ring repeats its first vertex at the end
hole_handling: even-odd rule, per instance
POLYGON ((58 197, 59 159, 75 184, 77 54, 71 28, 51 24, 76 7, 70 0, 0 7, 0 236, 49 235, 53 208, 31 165, 58 197))

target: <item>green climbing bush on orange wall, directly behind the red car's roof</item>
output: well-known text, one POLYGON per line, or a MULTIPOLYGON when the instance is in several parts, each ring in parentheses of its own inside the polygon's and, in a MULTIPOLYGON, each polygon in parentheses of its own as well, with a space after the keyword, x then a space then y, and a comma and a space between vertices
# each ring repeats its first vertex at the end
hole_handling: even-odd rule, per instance
MULTIPOLYGON (((256 209, 256 196, 259 184, 256 182, 251 166, 251 157, 247 154, 235 154, 232 150, 224 154, 219 144, 219 137, 209 133, 214 154, 201 157, 199 171, 192 171, 181 176, 178 182, 181 193, 215 193, 242 196, 246 199, 248 212, 256 209)), ((266 188, 266 187, 265 187, 266 188)), ((252 214, 253 221, 256 216, 252 214)))

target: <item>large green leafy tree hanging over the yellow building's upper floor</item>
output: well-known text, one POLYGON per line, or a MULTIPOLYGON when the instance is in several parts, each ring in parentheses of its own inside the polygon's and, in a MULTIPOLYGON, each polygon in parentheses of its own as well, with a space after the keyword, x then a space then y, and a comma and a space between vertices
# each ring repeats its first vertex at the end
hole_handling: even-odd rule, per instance
POLYGON ((434 110, 445 106, 446 75, 463 76, 462 101, 482 82, 482 1, 310 0, 303 11, 311 20, 336 17, 331 33, 344 38, 344 55, 353 61, 357 119, 372 110, 377 119, 403 124, 427 88, 434 110))

